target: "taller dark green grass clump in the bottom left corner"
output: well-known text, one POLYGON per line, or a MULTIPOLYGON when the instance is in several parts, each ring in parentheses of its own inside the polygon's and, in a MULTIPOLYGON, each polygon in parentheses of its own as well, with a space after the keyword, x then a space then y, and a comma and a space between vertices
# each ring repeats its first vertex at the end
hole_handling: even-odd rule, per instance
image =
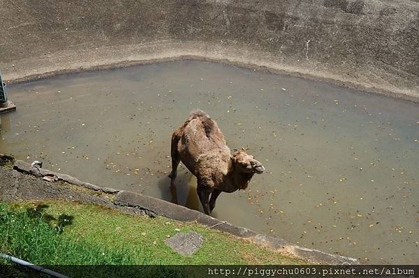
POLYGON ((11 209, 0 203, 0 250, 34 264, 133 264, 126 248, 112 249, 84 240, 61 236, 64 226, 71 224, 71 215, 56 219, 43 207, 11 209), (54 220, 54 225, 50 222, 54 220))

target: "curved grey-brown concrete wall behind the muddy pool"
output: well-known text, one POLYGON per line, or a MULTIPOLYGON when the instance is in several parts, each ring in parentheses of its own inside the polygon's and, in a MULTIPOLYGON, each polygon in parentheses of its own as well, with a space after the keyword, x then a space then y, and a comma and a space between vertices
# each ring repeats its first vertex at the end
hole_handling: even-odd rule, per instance
POLYGON ((8 82, 189 56, 419 97, 417 0, 3 0, 0 14, 8 82))

